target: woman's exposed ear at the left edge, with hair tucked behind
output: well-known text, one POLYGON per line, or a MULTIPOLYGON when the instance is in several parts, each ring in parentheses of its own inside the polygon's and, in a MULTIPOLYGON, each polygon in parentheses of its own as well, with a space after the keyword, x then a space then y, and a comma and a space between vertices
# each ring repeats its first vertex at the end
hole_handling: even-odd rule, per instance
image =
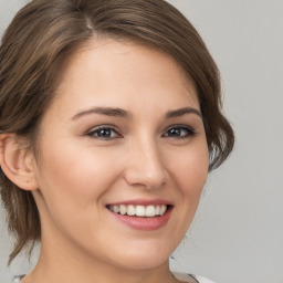
POLYGON ((0 135, 0 166, 4 175, 19 188, 38 189, 34 155, 14 134, 0 135))

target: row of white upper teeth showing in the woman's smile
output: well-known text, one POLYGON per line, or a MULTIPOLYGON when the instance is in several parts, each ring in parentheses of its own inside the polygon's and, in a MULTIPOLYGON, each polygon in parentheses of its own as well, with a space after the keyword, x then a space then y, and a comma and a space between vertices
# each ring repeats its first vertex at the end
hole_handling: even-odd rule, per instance
POLYGON ((127 216, 137 216, 137 217, 156 217, 163 216, 166 210, 166 205, 160 206, 134 206, 134 205, 119 205, 119 206, 108 206, 107 207, 112 212, 119 213, 119 214, 127 214, 127 216))

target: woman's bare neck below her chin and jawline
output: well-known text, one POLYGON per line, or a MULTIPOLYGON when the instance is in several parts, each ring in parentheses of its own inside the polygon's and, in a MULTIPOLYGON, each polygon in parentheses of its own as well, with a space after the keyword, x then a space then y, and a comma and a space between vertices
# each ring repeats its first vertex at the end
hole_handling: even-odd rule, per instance
POLYGON ((52 247, 42 241, 39 262, 23 283, 172 283, 169 260, 150 269, 127 269, 109 264, 70 247, 52 247), (63 249, 62 249, 63 248, 63 249), (53 252, 51 252, 53 251, 53 252))

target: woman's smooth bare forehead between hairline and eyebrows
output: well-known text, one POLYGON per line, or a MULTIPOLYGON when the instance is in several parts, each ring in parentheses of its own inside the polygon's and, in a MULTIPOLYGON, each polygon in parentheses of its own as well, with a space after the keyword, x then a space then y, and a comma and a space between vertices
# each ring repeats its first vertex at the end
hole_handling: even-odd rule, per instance
POLYGON ((156 99, 172 107, 184 103, 199 107, 192 80, 171 56, 125 40, 91 41, 80 49, 63 70, 56 96, 69 103, 75 99, 77 107, 97 103, 130 107, 137 99, 146 107, 156 99))

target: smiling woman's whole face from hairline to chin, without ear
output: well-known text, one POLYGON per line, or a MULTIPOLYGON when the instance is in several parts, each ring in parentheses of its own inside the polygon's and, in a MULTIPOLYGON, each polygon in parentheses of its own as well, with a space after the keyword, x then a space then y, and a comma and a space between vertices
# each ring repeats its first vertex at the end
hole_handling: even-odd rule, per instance
POLYGON ((38 142, 43 245, 128 269, 168 260, 209 164, 195 86, 170 56, 90 43, 69 62, 38 142))

